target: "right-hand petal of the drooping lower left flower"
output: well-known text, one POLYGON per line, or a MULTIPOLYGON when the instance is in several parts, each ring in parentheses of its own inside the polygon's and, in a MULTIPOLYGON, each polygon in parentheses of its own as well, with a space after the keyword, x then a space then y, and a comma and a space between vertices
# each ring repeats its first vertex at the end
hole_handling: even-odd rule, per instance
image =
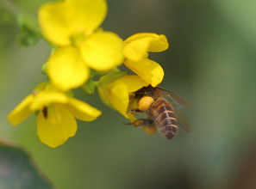
POLYGON ((76 119, 83 121, 93 121, 101 115, 101 112, 96 108, 74 98, 69 98, 66 107, 76 119))

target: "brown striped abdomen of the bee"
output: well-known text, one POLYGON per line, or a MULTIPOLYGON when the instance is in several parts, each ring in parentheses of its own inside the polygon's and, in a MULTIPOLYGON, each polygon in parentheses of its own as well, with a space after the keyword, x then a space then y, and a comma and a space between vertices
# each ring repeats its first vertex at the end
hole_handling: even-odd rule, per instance
POLYGON ((155 125, 169 140, 178 132, 178 121, 172 105, 163 98, 159 98, 149 108, 148 113, 153 117, 155 125))

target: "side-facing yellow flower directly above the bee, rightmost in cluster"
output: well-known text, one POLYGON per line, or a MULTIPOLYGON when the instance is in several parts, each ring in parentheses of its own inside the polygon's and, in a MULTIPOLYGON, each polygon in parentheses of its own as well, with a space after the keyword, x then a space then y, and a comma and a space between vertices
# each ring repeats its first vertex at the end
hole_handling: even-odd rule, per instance
POLYGON ((163 80, 164 70, 158 63, 147 57, 148 52, 162 52, 168 48, 169 45, 165 35, 134 34, 124 42, 123 54, 126 58, 124 64, 145 82, 156 87, 163 80))

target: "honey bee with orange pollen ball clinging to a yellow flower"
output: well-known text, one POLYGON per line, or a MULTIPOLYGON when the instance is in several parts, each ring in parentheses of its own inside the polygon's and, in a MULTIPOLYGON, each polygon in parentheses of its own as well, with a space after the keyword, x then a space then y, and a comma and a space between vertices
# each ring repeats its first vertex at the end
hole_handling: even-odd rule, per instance
POLYGON ((150 85, 140 88, 134 94, 138 99, 138 108, 130 110, 129 113, 147 113, 148 118, 136 119, 129 125, 156 127, 169 140, 175 137, 178 132, 178 119, 174 107, 165 96, 171 97, 173 101, 184 106, 189 106, 190 102, 177 94, 150 85))

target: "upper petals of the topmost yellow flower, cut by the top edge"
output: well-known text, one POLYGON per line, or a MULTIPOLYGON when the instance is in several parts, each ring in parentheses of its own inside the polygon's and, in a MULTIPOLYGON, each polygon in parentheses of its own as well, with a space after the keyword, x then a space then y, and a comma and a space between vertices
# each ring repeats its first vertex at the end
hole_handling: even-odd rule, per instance
POLYGON ((42 33, 59 46, 71 44, 71 37, 91 34, 107 12, 104 0, 66 0, 46 3, 39 9, 42 33))

